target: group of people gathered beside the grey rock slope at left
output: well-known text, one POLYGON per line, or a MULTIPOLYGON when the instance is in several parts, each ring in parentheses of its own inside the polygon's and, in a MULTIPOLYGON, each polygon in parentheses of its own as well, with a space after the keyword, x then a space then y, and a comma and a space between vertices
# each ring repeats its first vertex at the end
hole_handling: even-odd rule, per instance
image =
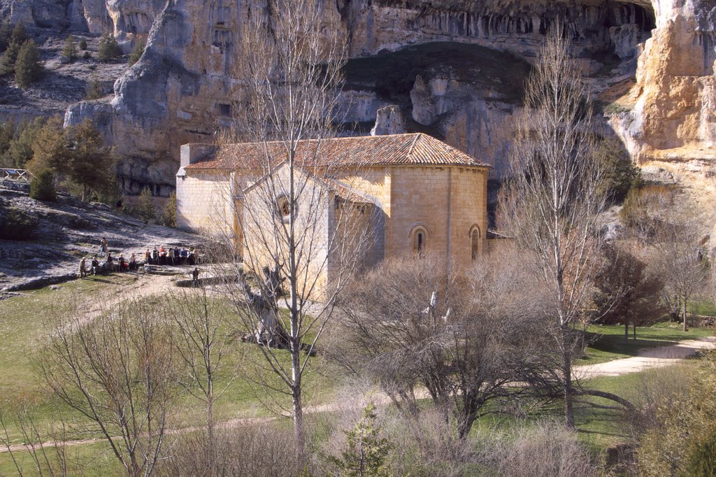
MULTIPOLYGON (((162 246, 159 249, 155 247, 151 251, 147 249, 144 254, 144 261, 145 264, 150 265, 196 265, 199 263, 199 254, 196 249, 188 250, 183 247, 165 249, 162 246)), ((102 237, 99 258, 95 255, 89 260, 89 256, 83 256, 79 261, 79 278, 84 278, 89 274, 99 275, 112 271, 135 271, 138 268, 139 264, 137 264, 135 254, 130 255, 129 259, 125 259, 123 254, 120 254, 117 258, 113 257, 107 245, 107 238, 102 237)), ((198 269, 195 269, 195 272, 198 275, 198 269)), ((197 279, 196 276, 193 278, 194 280, 197 279)))

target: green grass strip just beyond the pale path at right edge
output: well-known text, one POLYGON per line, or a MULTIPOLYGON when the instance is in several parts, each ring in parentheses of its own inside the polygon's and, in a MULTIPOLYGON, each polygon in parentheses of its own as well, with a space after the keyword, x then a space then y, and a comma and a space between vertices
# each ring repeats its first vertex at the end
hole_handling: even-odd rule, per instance
POLYGON ((584 357, 577 360, 576 365, 594 365, 599 362, 619 360, 639 355, 639 351, 649 347, 667 346, 682 339, 714 336, 712 328, 691 328, 683 332, 679 324, 659 323, 651 327, 637 327, 637 339, 624 339, 624 327, 615 325, 590 325, 587 328, 588 339, 591 341, 584 352, 584 357))

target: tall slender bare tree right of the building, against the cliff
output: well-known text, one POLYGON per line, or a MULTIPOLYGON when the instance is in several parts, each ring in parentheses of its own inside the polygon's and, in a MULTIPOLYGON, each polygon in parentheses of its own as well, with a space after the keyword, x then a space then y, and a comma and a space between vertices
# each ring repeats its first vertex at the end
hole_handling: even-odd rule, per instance
POLYGON ((591 275, 599 257, 596 221, 605 198, 589 91, 561 29, 558 25, 548 34, 526 82, 500 215, 519 248, 531 252, 553 300, 564 417, 571 428, 571 365, 581 346, 573 327, 591 299, 591 275))

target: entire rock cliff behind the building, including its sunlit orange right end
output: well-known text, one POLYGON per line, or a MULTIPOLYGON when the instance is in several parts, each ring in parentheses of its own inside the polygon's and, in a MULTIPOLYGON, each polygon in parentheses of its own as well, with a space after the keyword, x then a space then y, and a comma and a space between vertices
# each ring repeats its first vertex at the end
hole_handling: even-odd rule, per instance
MULTIPOLYGON (((66 120, 97 119, 124 158, 125 187, 161 194, 179 145, 211 141, 228 122, 241 26, 264 9, 263 0, 0 0, 13 19, 112 30, 125 48, 148 36, 115 99, 74 105, 66 120)), ((716 141, 716 0, 336 0, 324 13, 349 40, 344 109, 360 133, 380 107, 398 105, 408 131, 445 138, 501 175, 528 63, 561 22, 635 159, 706 157, 716 141)))

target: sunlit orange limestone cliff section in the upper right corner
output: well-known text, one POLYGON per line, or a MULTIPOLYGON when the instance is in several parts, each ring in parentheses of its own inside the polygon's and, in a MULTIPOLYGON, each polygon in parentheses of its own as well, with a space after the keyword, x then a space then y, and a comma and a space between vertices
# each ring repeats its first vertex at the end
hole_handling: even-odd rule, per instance
POLYGON ((716 144, 716 1, 654 0, 657 28, 644 44, 634 109, 613 119, 632 156, 713 155, 716 144))

